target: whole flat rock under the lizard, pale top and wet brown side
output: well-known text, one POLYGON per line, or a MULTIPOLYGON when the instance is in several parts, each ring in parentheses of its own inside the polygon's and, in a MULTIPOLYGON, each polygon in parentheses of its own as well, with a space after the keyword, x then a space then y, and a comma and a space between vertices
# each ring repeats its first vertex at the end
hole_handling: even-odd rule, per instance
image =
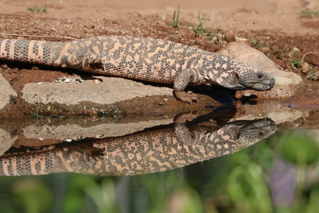
POLYGON ((95 76, 81 83, 30 83, 23 87, 21 93, 25 113, 33 114, 35 109, 39 109, 41 115, 137 111, 160 115, 163 112, 167 114, 167 111, 181 113, 199 110, 204 106, 221 106, 210 96, 213 93, 210 86, 201 85, 191 89, 198 94, 199 103, 177 101, 173 96, 173 85, 106 76, 95 76))

